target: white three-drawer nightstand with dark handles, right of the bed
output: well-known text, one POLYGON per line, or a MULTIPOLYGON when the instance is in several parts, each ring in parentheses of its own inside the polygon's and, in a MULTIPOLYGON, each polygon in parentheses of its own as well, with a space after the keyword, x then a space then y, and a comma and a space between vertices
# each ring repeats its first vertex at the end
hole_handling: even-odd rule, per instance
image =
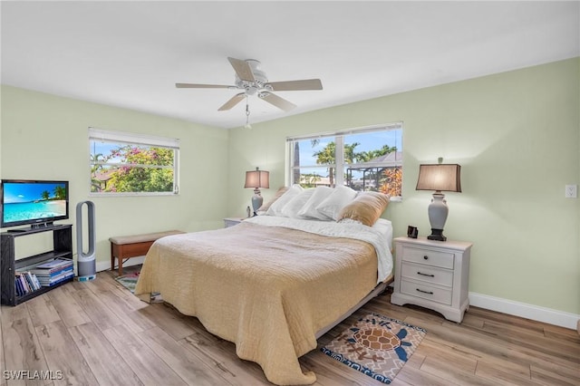
POLYGON ((396 237, 391 303, 415 304, 461 323, 469 309, 471 243, 396 237))

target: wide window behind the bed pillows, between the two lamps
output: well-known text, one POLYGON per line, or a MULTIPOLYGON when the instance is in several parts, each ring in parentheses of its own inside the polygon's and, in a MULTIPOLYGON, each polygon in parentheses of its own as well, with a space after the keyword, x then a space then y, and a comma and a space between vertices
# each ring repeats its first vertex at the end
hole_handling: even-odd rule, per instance
POLYGON ((401 122, 288 138, 287 142, 290 184, 304 188, 345 185, 401 198, 401 122))

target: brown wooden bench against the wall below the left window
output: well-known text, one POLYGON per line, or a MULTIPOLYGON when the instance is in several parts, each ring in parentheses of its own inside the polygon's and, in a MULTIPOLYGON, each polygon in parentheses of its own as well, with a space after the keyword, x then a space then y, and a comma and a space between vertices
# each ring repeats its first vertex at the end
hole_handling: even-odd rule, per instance
POLYGON ((111 242, 111 271, 115 270, 115 257, 119 261, 119 275, 123 275, 123 259, 145 256, 150 246, 161 237, 185 233, 180 230, 148 233, 146 235, 109 237, 111 242))

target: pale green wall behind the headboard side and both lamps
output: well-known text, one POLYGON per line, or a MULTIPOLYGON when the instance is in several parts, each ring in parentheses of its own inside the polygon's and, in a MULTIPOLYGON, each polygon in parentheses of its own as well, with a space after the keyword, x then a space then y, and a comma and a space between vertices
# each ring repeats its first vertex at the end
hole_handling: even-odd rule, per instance
POLYGON ((244 171, 285 183, 285 138, 403 121, 403 200, 383 217, 395 236, 429 234, 430 192, 414 190, 420 163, 462 166, 448 193, 449 239, 474 243, 469 291, 580 314, 580 59, 503 72, 231 130, 230 215, 252 196, 244 171))

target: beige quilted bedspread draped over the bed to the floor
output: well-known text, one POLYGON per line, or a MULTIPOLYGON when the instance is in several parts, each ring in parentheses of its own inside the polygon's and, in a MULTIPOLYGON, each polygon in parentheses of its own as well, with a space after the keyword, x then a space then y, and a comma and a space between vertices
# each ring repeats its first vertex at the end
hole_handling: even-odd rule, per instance
POLYGON ((235 227, 158 240, 135 294, 160 292, 182 314, 236 343, 237 356, 262 366, 276 384, 310 384, 298 357, 315 333, 377 282, 370 244, 283 227, 235 227))

